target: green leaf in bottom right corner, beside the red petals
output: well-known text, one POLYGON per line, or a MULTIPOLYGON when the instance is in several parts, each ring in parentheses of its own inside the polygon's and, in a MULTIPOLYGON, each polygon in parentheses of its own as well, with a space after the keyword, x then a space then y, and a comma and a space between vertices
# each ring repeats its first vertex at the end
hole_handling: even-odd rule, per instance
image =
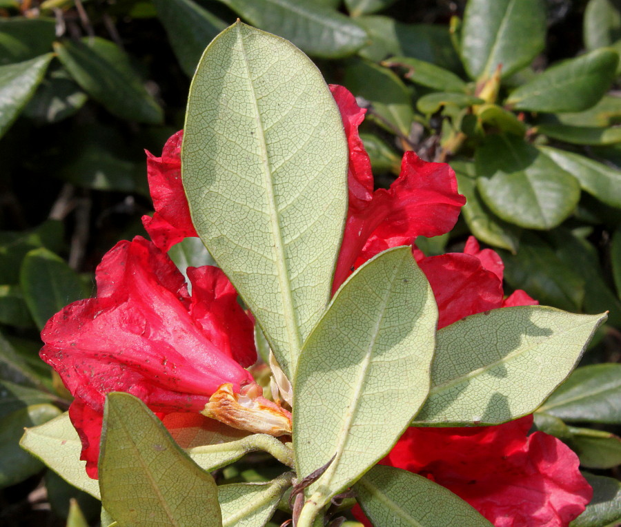
POLYGON ((569 527, 611 527, 621 520, 621 482, 612 477, 582 473, 593 487, 593 499, 569 527))

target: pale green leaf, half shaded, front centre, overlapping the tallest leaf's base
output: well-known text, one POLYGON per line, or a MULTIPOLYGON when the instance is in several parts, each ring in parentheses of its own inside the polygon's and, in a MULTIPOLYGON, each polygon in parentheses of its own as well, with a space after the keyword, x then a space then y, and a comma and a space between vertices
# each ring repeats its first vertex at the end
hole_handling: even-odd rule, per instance
POLYGON ((388 453, 424 402, 436 323, 410 247, 369 260, 335 294, 293 389, 297 474, 331 462, 310 487, 319 508, 388 453))

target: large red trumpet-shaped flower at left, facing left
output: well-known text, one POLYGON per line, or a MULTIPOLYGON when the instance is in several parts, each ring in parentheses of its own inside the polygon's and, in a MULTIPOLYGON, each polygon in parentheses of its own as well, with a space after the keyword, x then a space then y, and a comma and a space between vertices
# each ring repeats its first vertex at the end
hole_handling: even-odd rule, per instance
POLYGON ((159 415, 212 415, 206 406, 223 387, 233 398, 252 391, 252 400, 264 404, 242 367, 257 358, 253 322, 220 269, 188 268, 190 296, 172 260, 137 237, 112 248, 96 276, 97 298, 68 305, 41 333, 41 358, 75 397, 69 415, 90 477, 97 477, 110 391, 132 393, 159 415))

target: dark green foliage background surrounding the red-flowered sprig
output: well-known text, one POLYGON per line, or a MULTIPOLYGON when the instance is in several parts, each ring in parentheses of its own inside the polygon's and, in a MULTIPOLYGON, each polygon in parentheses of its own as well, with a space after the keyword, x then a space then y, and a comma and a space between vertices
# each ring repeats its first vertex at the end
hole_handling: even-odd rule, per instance
MULTIPOLYGON (((475 234, 502 255, 510 288, 573 312, 608 309, 609 323, 582 365, 620 362, 618 70, 596 64, 599 74, 589 85, 564 86, 553 98, 578 93, 580 111, 524 107, 511 113, 506 103, 511 90, 550 64, 606 46, 621 49, 620 6, 612 0, 534 3, 545 10, 542 49, 514 43, 509 56, 526 56, 531 65, 503 79, 500 106, 486 116, 484 101, 473 99, 483 96, 483 84, 464 69, 472 57, 464 51, 460 60, 455 49, 466 1, 0 0, 0 523, 64 525, 70 497, 97 523, 95 500, 17 446, 23 426, 68 406, 68 394, 38 358, 38 333, 65 304, 95 292, 92 273, 115 242, 145 234, 140 218, 152 205, 144 149, 159 155, 166 138, 181 129, 193 68, 210 39, 237 17, 299 45, 328 82, 345 85, 368 105, 361 131, 381 185, 398 174, 404 149, 452 163, 469 205, 450 237, 418 240, 424 251, 460 251, 475 234), (437 70, 426 79, 420 63, 408 79, 407 68, 382 63, 395 55, 449 70, 463 87, 457 83, 451 91, 455 80, 437 70), (517 163, 499 137, 522 152, 517 163), (568 169, 576 183, 558 164, 542 161, 542 145, 595 165, 580 161, 568 169), (546 217, 533 220, 536 192, 520 211, 507 212, 515 194, 503 198, 476 180, 491 166, 490 178, 500 172, 534 181, 535 189, 538 181, 561 181, 544 207, 546 217)), ((518 13, 511 22, 527 16, 518 13)), ((197 256, 191 249, 175 253, 197 256)), ((614 384, 607 396, 619 397, 618 370, 604 373, 614 384)), ((570 417, 571 429, 558 420, 539 424, 581 453, 585 468, 617 477, 621 443, 611 433, 619 432, 620 417, 593 415, 586 424, 584 417, 570 417)), ((269 476, 269 467, 262 473, 248 466, 221 477, 269 476)))

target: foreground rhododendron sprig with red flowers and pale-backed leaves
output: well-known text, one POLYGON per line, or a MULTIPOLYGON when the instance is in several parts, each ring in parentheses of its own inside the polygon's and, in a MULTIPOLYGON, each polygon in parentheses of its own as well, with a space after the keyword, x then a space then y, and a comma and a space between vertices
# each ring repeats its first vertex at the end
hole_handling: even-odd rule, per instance
POLYGON ((425 256, 416 238, 449 232, 465 203, 455 174, 406 152, 374 189, 363 118, 283 39, 238 22, 207 48, 184 132, 148 154, 152 241, 119 242, 96 298, 42 333, 109 523, 264 526, 290 487, 298 527, 339 524, 333 504, 352 497, 376 527, 433 524, 427 501, 473 527, 567 526, 584 510, 576 456, 528 435, 527 414, 605 315, 505 297, 502 260, 474 238, 425 256), (219 268, 188 267, 186 283, 166 251, 195 236, 219 268), (271 382, 267 365, 245 369, 255 338, 271 382), (254 450, 292 470, 216 490, 209 472, 254 450), (403 484, 377 486, 378 462, 403 484))

